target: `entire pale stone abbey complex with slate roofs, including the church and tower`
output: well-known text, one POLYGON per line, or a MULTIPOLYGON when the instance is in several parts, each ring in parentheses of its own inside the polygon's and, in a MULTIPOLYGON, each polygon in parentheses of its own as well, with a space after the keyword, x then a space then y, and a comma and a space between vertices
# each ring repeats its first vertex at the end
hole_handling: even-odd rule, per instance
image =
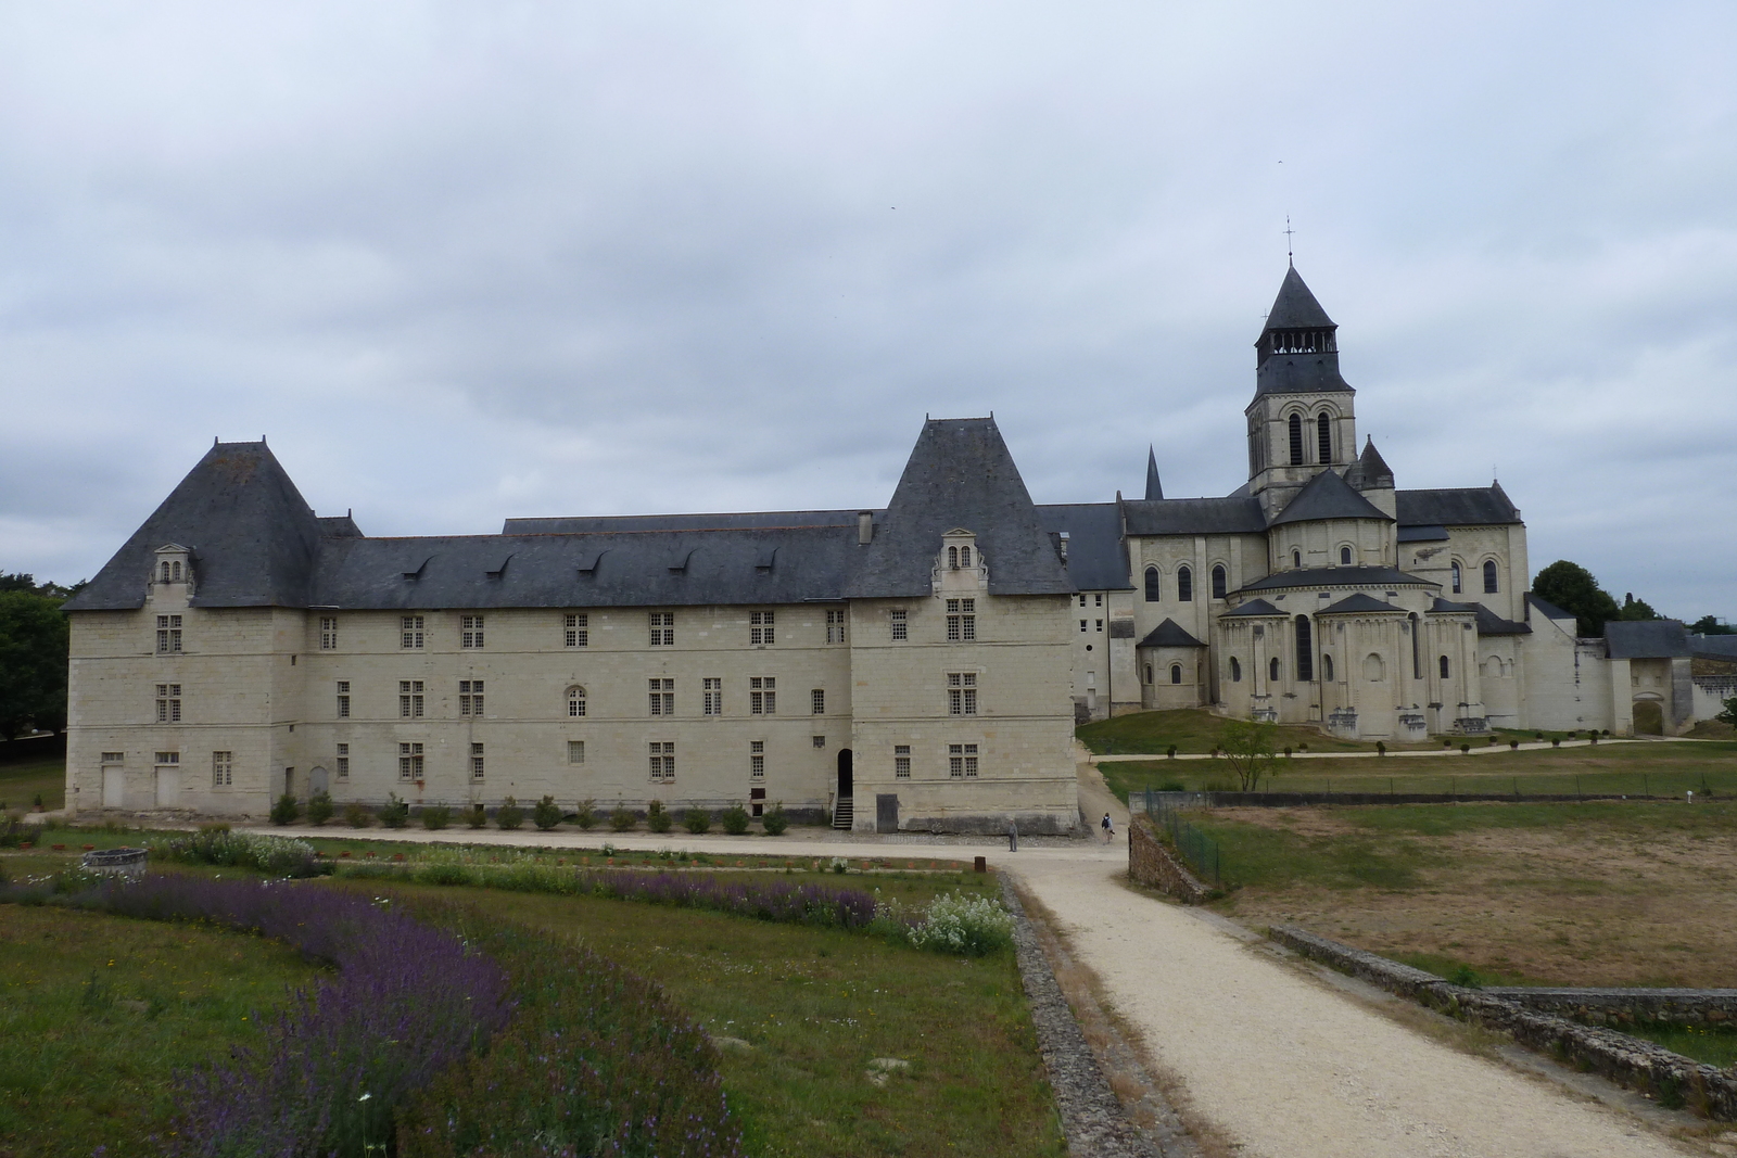
POLYGON ((1068 832, 1072 729, 1110 712, 1628 731, 1662 674, 1683 726, 1687 658, 1608 655, 1525 592, 1501 486, 1398 490, 1358 448, 1336 330, 1287 271, 1226 498, 1164 498, 1148 458, 1143 498, 1037 505, 961 418, 881 509, 370 538, 262 441, 217 443, 66 604, 68 806, 547 793, 1068 832))

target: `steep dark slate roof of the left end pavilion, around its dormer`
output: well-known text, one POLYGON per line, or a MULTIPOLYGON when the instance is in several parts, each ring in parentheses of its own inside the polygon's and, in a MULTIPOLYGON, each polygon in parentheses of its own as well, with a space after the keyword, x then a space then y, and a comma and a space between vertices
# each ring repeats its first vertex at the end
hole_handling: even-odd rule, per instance
POLYGON ((306 606, 321 528, 278 458, 259 443, 215 443, 132 533, 68 611, 144 606, 153 554, 193 550, 193 606, 306 606))

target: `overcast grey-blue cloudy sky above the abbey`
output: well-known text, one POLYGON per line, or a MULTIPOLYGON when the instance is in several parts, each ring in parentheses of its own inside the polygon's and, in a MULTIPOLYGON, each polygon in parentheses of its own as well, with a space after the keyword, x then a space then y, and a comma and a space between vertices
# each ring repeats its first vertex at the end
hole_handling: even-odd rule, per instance
POLYGON ((0 5, 0 569, 214 436, 370 535, 1245 476, 1285 267, 1400 486, 1737 618, 1730 3, 0 5))

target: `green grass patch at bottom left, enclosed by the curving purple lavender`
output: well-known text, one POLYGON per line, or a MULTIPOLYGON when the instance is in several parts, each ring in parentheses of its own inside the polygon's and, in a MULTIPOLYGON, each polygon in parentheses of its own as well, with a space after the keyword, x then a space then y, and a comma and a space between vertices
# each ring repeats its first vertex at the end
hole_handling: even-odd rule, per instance
POLYGON ((174 1071, 252 1043, 313 972, 243 934, 0 905, 0 1153, 155 1149, 174 1071))

